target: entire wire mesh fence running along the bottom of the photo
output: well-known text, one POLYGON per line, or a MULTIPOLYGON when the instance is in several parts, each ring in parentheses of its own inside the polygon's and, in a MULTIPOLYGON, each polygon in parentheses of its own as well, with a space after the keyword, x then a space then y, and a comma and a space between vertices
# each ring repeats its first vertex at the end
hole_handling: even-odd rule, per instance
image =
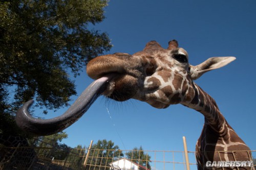
MULTIPOLYGON (((255 158, 256 151, 251 152, 255 158)), ((195 154, 188 152, 190 169, 197 169, 195 154)), ((184 151, 1 147, 0 169, 175 170, 186 169, 186 159, 184 151), (56 156, 61 159, 56 159, 56 156)))

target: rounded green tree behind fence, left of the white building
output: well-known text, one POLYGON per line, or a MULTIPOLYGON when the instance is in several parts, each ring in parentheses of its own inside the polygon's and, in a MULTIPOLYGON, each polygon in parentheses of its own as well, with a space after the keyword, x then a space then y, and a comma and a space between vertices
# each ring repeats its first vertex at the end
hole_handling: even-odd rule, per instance
POLYGON ((93 144, 90 158, 88 159, 86 169, 105 169, 106 166, 110 166, 113 160, 123 157, 122 151, 118 145, 115 145, 111 140, 106 139, 98 140, 96 144, 93 144))

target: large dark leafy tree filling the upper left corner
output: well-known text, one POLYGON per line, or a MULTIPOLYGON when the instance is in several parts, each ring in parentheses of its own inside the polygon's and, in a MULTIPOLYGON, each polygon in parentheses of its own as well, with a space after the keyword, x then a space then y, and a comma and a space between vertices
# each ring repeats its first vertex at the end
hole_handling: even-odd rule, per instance
POLYGON ((0 132, 20 133, 13 116, 30 99, 47 110, 68 105, 76 94, 69 74, 76 77, 111 48, 106 33, 91 29, 104 19, 106 5, 107 0, 0 1, 0 132))

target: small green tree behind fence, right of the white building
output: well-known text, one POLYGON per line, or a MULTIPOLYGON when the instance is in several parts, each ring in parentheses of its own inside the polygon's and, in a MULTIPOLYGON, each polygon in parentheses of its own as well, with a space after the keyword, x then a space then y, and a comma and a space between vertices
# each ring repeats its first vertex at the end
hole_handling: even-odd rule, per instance
POLYGON ((145 166, 149 169, 151 169, 151 156, 148 155, 147 153, 144 153, 142 147, 139 149, 135 147, 133 151, 127 152, 125 154, 128 159, 132 160, 133 162, 138 163, 139 165, 145 166))

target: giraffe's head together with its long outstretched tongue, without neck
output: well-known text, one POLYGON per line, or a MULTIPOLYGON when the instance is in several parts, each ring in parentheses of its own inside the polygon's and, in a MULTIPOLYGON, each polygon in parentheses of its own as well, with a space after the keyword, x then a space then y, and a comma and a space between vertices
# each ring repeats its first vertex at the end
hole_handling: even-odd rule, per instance
POLYGON ((51 119, 34 118, 28 112, 33 103, 31 100, 17 111, 16 123, 24 131, 36 135, 60 132, 76 122, 100 94, 117 101, 136 99, 156 108, 178 103, 190 107, 189 104, 199 101, 195 100, 193 80, 234 59, 215 57, 192 66, 188 63, 187 52, 178 47, 176 40, 170 41, 167 49, 151 41, 143 51, 134 55, 115 53, 99 56, 87 65, 88 75, 97 80, 64 114, 51 119))

